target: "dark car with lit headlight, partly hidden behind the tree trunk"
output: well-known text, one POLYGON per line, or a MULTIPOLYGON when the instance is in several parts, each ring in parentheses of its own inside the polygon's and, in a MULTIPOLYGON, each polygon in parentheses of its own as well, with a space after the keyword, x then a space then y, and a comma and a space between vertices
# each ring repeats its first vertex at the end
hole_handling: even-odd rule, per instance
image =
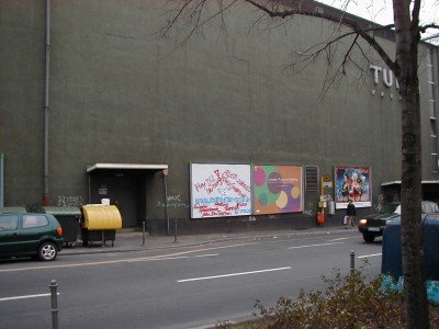
MULTIPOLYGON (((438 211, 438 205, 435 202, 421 202, 423 214, 432 214, 438 211)), ((358 229, 363 235, 364 242, 370 243, 376 237, 381 237, 387 225, 395 218, 398 218, 399 215, 401 202, 392 202, 384 204, 379 213, 362 217, 358 223, 358 229)))

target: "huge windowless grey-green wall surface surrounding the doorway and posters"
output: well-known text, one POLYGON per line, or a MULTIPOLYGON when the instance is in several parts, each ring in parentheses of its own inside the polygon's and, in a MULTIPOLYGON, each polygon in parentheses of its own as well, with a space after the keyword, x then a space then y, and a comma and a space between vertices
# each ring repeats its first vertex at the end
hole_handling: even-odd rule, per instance
MULTIPOLYGON (((327 36, 326 22, 297 18, 278 29, 249 30, 254 16, 238 8, 226 16, 226 34, 212 22, 180 47, 183 31, 165 38, 155 34, 166 23, 164 2, 53 1, 53 204, 87 202, 86 167, 95 162, 168 163, 169 195, 181 200, 171 216, 185 219, 190 162, 318 166, 331 175, 334 166, 370 166, 374 204, 381 182, 399 179, 395 87, 384 87, 382 79, 375 86, 368 66, 362 73, 351 66, 319 98, 324 60, 301 71, 288 68, 291 54, 327 36)), ((0 53, 5 204, 41 203, 45 5, 31 0, 0 5, 1 44, 8 45, 0 53)), ((370 60, 384 67, 363 46, 370 60)), ((383 46, 393 48, 389 41, 383 46)), ((353 57, 364 63, 359 52, 353 57)), ((421 120, 428 125, 424 67, 421 60, 421 120)), ((423 173, 436 179, 427 131, 423 173)), ((148 195, 148 204, 159 204, 161 192, 148 195)), ((317 194, 309 197, 305 211, 315 214, 317 194)), ((151 219, 162 214, 149 209, 151 219)))

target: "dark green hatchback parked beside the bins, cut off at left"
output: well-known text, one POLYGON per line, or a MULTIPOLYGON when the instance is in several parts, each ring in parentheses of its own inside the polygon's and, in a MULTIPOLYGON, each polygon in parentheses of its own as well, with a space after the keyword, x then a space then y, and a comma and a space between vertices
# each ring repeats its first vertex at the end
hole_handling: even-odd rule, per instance
POLYGON ((0 214, 0 257, 35 256, 53 261, 63 243, 63 228, 50 214, 0 214))

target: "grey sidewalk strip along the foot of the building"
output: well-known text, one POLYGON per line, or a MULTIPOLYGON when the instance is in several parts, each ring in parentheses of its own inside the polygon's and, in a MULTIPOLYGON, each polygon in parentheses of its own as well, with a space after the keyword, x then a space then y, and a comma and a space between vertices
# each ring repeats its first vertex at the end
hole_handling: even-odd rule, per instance
POLYGON ((303 230, 268 230, 268 231, 241 231, 241 232, 218 232, 218 234, 199 234, 199 235, 181 235, 177 236, 148 236, 145 235, 145 245, 143 245, 142 231, 117 230, 114 247, 111 241, 106 241, 105 246, 101 242, 95 242, 90 247, 82 246, 81 241, 76 243, 74 248, 64 247, 60 254, 87 254, 87 253, 103 253, 103 252, 128 252, 142 250, 157 249, 173 249, 191 246, 202 246, 211 243, 219 243, 226 241, 247 241, 261 239, 279 239, 293 236, 304 235, 330 235, 331 232, 351 232, 346 230, 345 226, 333 226, 323 228, 308 228, 303 230))

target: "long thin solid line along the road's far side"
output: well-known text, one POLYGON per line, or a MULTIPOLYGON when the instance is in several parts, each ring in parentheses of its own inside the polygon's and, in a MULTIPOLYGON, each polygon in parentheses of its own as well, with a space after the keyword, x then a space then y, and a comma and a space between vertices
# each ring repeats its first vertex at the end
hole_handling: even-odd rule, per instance
POLYGON ((30 270, 52 270, 52 269, 63 269, 63 268, 97 266, 97 265, 106 265, 106 264, 115 264, 115 263, 125 263, 125 262, 135 261, 136 259, 149 259, 149 260, 153 261, 153 260, 161 260, 164 258, 179 257, 181 254, 203 252, 203 251, 207 251, 207 250, 217 250, 217 249, 243 247, 243 246, 249 246, 249 245, 256 245, 256 243, 257 242, 227 245, 227 246, 221 246, 221 247, 212 247, 212 248, 203 248, 203 249, 180 251, 180 252, 162 254, 162 256, 151 256, 151 257, 148 257, 148 258, 142 257, 142 258, 112 260, 112 261, 99 261, 99 262, 74 263, 74 264, 61 264, 61 265, 42 265, 42 266, 32 266, 32 268, 30 266, 30 268, 18 268, 18 269, 4 269, 4 270, 0 270, 0 273, 20 272, 20 271, 30 271, 30 270))

